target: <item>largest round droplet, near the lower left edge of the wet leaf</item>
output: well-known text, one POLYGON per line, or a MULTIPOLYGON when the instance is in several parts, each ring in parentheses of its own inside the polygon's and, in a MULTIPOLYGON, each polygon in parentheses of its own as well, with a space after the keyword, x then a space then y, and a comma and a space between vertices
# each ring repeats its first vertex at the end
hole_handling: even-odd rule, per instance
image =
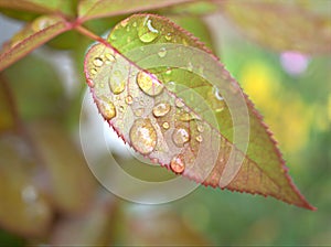
POLYGON ((149 118, 137 119, 130 129, 132 147, 142 154, 152 152, 157 146, 157 131, 149 118))

